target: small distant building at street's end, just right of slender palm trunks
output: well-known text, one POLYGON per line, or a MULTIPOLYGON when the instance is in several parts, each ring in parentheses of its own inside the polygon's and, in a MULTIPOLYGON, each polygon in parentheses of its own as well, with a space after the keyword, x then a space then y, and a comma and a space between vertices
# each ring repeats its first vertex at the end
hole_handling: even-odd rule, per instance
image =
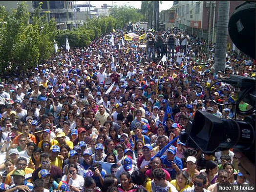
POLYGON ((160 13, 160 30, 168 30, 175 25, 175 9, 164 10, 160 13))

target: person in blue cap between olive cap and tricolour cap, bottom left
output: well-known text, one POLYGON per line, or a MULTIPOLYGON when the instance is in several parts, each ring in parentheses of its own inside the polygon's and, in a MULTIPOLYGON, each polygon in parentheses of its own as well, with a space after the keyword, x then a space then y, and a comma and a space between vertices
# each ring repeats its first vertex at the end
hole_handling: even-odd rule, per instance
POLYGON ((58 189, 58 183, 53 180, 48 170, 42 169, 38 173, 38 177, 43 179, 45 189, 49 190, 50 192, 58 189))

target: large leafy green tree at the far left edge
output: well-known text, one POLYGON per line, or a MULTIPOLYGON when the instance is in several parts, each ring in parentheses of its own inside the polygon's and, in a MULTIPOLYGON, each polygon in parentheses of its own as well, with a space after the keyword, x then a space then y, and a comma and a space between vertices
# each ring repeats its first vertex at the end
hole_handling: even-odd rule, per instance
POLYGON ((36 9, 30 24, 25 1, 19 1, 12 14, 0 7, 0 74, 33 68, 50 57, 56 23, 45 18, 36 9))

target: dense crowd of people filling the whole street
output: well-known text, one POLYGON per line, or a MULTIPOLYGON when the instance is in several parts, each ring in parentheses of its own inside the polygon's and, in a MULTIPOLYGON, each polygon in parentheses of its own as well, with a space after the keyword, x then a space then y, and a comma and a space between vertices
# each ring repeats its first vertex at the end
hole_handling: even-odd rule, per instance
POLYGON ((214 46, 206 53, 205 40, 186 31, 149 32, 125 45, 122 34, 114 45, 102 36, 1 77, 1 192, 217 192, 217 184, 253 182, 238 165, 242 154, 168 143, 198 110, 242 120, 233 105, 239 90, 210 85, 254 77, 255 60, 227 52, 225 71, 215 71, 214 46))

